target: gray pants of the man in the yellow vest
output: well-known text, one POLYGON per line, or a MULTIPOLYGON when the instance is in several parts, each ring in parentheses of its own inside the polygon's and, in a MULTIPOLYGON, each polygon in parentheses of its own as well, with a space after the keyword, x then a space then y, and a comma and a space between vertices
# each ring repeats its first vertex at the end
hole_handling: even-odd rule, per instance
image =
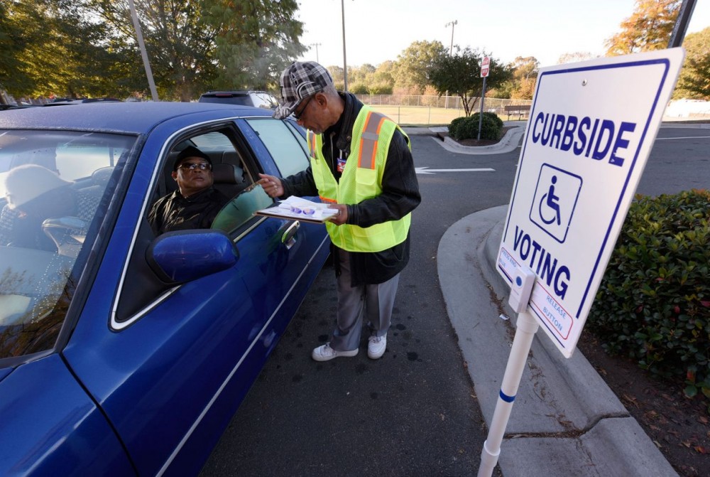
POLYGON ((338 315, 330 347, 337 351, 359 348, 363 318, 371 336, 385 336, 390 328, 399 274, 376 285, 350 286, 350 254, 336 249, 340 262, 338 315))

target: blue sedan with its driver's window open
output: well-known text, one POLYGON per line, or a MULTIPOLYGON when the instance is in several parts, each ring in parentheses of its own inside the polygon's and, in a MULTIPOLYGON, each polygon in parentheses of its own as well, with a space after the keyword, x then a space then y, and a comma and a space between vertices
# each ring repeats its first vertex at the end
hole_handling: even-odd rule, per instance
POLYGON ((327 259, 322 225, 253 215, 273 205, 258 173, 307 166, 264 109, 0 112, 0 475, 199 473, 327 259), (156 236, 187 146, 231 200, 156 236))

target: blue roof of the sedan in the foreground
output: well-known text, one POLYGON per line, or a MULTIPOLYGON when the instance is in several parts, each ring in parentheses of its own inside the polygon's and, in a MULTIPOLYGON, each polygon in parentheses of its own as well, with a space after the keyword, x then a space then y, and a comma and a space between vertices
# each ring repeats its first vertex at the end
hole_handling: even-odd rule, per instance
POLYGON ((176 117, 206 121, 271 116, 271 111, 239 104, 204 102, 95 102, 0 111, 0 129, 76 129, 142 134, 176 117))

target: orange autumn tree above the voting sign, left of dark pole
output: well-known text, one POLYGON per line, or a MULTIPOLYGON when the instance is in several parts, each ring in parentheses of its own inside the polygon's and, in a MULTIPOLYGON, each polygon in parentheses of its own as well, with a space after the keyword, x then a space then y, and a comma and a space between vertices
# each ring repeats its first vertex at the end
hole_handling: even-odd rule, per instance
POLYGON ((621 31, 606 41, 608 56, 667 48, 682 0, 636 0, 621 31))

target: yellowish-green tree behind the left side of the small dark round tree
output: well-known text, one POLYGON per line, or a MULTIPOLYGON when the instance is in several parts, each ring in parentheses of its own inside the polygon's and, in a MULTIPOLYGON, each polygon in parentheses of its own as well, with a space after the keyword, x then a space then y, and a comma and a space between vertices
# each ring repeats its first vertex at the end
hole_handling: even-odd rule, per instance
POLYGON ((430 68, 448 53, 440 41, 415 41, 397 56, 393 72, 395 87, 408 94, 421 95, 430 84, 430 68))

